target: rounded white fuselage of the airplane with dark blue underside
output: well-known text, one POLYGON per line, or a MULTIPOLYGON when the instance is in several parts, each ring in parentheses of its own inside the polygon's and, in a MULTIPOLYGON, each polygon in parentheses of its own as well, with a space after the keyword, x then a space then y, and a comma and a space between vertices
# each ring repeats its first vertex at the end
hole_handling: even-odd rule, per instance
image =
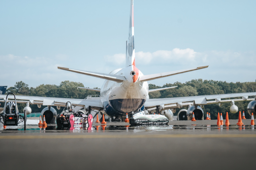
POLYGON ((111 75, 122 75, 125 81, 117 83, 106 80, 101 88, 101 102, 107 115, 129 115, 142 108, 149 98, 149 85, 139 81, 143 75, 134 65, 113 70, 111 75))

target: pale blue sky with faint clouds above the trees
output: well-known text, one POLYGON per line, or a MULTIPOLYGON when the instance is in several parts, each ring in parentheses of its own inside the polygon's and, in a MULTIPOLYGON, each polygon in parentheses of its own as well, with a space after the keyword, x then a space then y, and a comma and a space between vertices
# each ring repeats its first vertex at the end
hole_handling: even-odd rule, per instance
MULTIPOLYGON (((256 81, 255 0, 134 0, 136 67, 144 75, 209 65, 149 81, 256 81)), ((104 80, 57 69, 125 67, 130 0, 0 0, 0 85, 104 80)))

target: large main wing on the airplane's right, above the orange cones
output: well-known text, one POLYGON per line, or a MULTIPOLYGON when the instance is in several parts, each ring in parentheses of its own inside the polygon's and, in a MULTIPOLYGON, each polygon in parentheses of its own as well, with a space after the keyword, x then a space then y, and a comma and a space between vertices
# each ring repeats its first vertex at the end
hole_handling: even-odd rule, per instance
POLYGON ((146 109, 154 108, 157 106, 160 106, 161 108, 164 108, 164 109, 172 109, 172 108, 181 108, 182 106, 186 106, 186 105, 210 105, 213 103, 255 100, 255 96, 256 96, 256 92, 148 99, 146 100, 144 106, 146 109), (237 99, 238 97, 239 99, 237 99))

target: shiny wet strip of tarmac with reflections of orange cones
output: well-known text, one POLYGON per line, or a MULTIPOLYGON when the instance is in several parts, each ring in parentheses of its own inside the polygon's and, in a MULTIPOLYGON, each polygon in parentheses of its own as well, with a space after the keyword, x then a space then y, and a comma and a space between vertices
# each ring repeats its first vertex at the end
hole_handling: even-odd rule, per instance
MULTIPOLYGON (((29 125, 27 132, 113 132, 113 131, 129 131, 129 132, 141 132, 141 131, 168 131, 168 130, 187 130, 187 131, 254 131, 253 125, 163 125, 163 126, 130 126, 130 125, 93 125, 92 128, 86 130, 85 128, 74 128, 73 130, 57 130, 56 125, 49 125, 46 129, 40 129, 37 125, 29 125)), ((23 125, 20 126, 7 126, 6 129, 0 129, 0 133, 3 132, 21 132, 23 131, 23 125)))

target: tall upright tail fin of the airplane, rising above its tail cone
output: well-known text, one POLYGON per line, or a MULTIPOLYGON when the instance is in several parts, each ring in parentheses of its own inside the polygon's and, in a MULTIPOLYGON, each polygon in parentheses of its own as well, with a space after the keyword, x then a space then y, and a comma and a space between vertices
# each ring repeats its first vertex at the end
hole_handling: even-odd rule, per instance
POLYGON ((128 36, 128 41, 126 41, 126 67, 130 65, 135 66, 133 0, 131 0, 129 36, 128 36))

